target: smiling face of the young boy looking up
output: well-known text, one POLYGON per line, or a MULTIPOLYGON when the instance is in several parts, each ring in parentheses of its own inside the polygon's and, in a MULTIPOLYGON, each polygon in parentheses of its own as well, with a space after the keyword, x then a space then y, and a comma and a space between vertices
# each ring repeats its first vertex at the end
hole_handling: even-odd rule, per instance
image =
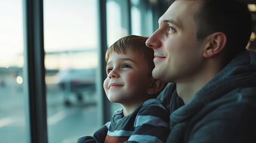
POLYGON ((106 71, 103 87, 111 102, 130 105, 132 102, 142 101, 153 81, 141 55, 132 51, 125 55, 113 52, 106 71))

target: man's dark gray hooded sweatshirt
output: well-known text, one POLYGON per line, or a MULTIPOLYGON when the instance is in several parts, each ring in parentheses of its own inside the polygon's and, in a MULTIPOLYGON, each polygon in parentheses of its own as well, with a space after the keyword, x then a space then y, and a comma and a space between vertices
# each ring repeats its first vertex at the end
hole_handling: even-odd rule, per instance
POLYGON ((184 105, 168 83, 159 98, 168 105, 166 142, 256 142, 256 53, 245 51, 184 105))

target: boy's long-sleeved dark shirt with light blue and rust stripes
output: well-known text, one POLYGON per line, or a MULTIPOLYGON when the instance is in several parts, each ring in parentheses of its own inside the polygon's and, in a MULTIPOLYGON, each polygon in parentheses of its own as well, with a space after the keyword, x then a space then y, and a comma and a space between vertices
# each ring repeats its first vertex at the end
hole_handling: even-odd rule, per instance
POLYGON ((115 111, 93 136, 82 136, 85 142, 165 142, 169 133, 169 111, 157 99, 147 100, 133 113, 124 117, 122 108, 115 111))

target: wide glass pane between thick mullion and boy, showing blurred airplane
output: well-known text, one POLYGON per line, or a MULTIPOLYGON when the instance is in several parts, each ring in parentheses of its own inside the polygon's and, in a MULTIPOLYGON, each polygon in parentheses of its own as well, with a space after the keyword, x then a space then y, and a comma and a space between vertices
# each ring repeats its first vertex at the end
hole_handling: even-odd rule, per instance
POLYGON ((95 90, 98 23, 95 0, 45 0, 44 45, 48 141, 76 142, 100 128, 95 90))

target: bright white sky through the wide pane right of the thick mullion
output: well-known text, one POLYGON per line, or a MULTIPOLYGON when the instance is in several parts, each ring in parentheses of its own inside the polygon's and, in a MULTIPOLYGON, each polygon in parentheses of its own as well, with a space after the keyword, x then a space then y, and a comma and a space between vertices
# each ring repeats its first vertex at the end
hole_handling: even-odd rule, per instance
POLYGON ((45 0, 45 51, 95 48, 97 7, 95 0, 45 0))

